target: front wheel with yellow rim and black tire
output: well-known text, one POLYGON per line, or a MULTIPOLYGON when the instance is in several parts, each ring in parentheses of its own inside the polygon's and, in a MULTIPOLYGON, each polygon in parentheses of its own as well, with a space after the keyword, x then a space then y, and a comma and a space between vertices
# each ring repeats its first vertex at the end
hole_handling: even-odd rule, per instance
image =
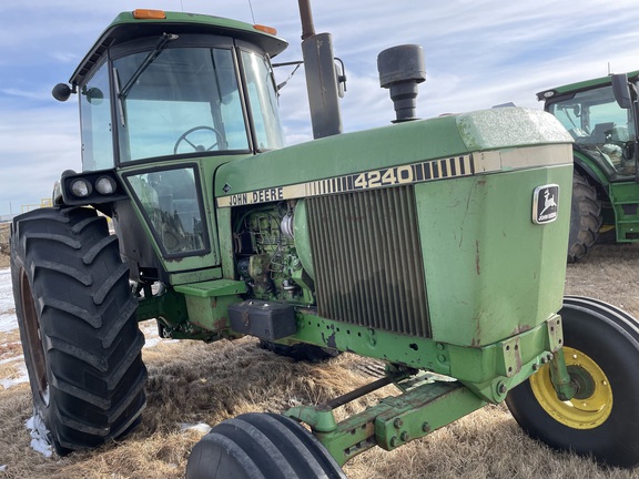
POLYGON ((532 438, 609 466, 639 465, 639 324, 601 302, 567 297, 564 354, 576 386, 561 401, 545 365, 506 404, 532 438))

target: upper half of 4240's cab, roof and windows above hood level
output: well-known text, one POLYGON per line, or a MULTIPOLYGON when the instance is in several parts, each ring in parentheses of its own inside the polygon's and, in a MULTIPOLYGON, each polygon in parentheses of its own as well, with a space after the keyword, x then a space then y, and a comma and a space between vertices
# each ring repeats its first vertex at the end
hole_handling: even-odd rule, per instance
POLYGON ((226 19, 121 13, 70 80, 80 93, 83 170, 281 147, 270 58, 285 47, 226 19))

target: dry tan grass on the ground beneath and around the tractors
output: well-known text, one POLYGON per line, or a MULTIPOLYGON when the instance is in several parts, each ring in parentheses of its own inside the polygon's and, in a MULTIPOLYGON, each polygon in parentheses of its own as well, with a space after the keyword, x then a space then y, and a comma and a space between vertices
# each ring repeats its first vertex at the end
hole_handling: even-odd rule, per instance
MULTIPOLYGON (((639 245, 598 246, 568 267, 567 293, 598 297, 639 316, 639 245)), ((20 354, 16 333, 0 333, 0 361, 20 354)), ((180 478, 201 432, 181 424, 213 425, 246 411, 281 411, 318 402, 371 380, 353 355, 322 365, 293 363, 256 347, 251 338, 212 345, 164 342, 144 349, 149 405, 141 426, 121 444, 47 459, 29 447, 27 385, 0 386, 0 472, 7 478, 180 478)), ((9 369, 0 366, 0 379, 9 369)), ((387 387, 381 395, 394 394, 387 387)), ((348 406, 356 412, 366 402, 348 406)), ((507 409, 488 406, 393 452, 369 450, 345 467, 351 479, 597 478, 631 479, 639 471, 602 469, 529 439, 507 409)))

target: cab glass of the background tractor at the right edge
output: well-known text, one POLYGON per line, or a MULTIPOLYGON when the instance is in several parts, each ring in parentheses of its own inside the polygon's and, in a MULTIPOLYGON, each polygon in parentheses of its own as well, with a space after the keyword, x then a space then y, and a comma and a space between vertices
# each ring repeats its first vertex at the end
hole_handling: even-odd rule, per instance
POLYGON ((605 170, 620 176, 635 174, 632 115, 617 104, 612 86, 575 93, 549 104, 548 111, 572 135, 577 147, 605 170))

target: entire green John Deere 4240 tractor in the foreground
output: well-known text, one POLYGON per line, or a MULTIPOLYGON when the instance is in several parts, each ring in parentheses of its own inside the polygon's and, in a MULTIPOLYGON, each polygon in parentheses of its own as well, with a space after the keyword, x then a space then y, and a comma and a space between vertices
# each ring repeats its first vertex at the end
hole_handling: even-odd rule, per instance
POLYGON ((518 108, 417 120, 417 45, 377 59, 394 124, 342 133, 343 72, 300 7, 315 136, 303 144, 283 145, 271 59, 286 42, 258 26, 124 12, 55 86, 79 98, 82 172, 11 230, 34 415, 55 450, 141 421, 138 323, 155 318, 165 338, 250 335, 284 355, 386 364, 326 404, 216 425, 187 477, 344 477, 372 447, 501 401, 557 449, 635 467, 639 325, 562 296, 572 137, 518 108), (336 419, 389 384, 402 393, 336 419))

